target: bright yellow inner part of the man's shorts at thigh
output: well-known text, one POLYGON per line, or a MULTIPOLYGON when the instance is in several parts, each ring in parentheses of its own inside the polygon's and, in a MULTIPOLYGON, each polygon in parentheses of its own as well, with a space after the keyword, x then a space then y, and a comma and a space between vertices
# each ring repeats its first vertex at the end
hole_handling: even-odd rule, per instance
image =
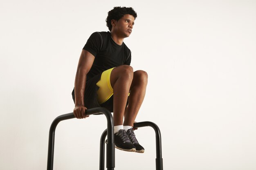
POLYGON ((99 90, 97 91, 97 94, 98 94, 97 100, 99 104, 103 104, 113 95, 113 88, 110 84, 110 74, 114 68, 110 68, 104 71, 101 74, 101 79, 96 84, 97 86, 99 86, 99 90))

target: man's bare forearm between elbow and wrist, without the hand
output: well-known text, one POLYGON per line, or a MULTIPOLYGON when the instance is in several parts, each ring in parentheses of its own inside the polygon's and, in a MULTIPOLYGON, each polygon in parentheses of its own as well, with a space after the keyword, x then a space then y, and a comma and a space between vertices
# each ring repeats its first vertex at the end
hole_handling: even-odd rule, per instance
POLYGON ((75 79, 75 106, 84 106, 84 92, 86 83, 86 73, 81 68, 77 68, 75 79))

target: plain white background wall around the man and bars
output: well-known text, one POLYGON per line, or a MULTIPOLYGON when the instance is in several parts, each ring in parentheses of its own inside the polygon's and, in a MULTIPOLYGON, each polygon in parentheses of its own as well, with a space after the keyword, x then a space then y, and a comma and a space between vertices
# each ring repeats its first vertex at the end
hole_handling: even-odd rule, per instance
MULTIPOLYGON (((159 126, 164 170, 256 170, 255 0, 1 0, 0 169, 46 170, 81 49, 115 6, 138 14, 124 41, 149 76, 137 121, 159 126)), ((103 115, 61 122, 54 170, 99 169, 105 128, 103 115)), ((145 153, 116 150, 115 169, 155 170, 153 129, 135 133, 145 153)))

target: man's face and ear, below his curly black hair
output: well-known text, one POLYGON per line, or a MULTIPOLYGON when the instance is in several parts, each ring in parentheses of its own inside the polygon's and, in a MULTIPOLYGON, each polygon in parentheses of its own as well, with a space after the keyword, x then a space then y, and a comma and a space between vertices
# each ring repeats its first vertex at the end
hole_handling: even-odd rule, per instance
POLYGON ((112 20, 112 30, 111 32, 115 32, 120 38, 129 37, 132 33, 132 28, 134 25, 135 18, 130 15, 126 14, 122 18, 117 20, 112 20))

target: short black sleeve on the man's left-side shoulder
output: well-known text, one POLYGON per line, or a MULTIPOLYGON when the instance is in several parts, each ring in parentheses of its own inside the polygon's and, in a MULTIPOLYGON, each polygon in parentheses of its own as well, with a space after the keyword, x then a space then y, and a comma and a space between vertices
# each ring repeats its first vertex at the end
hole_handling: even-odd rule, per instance
POLYGON ((96 57, 97 53, 99 53, 101 50, 102 41, 103 40, 99 32, 92 33, 83 47, 83 50, 89 51, 92 55, 94 55, 94 57, 96 57))

